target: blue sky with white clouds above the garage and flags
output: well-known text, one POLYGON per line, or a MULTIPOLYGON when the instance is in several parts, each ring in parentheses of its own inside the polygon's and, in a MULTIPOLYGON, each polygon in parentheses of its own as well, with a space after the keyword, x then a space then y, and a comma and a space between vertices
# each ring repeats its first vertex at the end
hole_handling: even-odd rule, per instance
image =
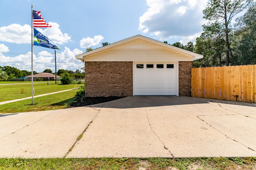
MULTIPOLYGON (((134 35, 172 44, 195 42, 207 0, 0 0, 0 66, 31 71, 31 4, 50 28, 36 28, 54 43, 57 70, 84 64, 75 55, 134 35)), ((33 47, 33 67, 55 71, 54 50, 33 47)))

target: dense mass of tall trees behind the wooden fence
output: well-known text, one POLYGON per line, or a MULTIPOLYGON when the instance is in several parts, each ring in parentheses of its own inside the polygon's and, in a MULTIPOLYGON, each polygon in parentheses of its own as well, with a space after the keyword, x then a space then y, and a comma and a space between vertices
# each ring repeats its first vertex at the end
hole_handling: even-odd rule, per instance
POLYGON ((203 32, 195 45, 172 44, 204 55, 193 61, 193 67, 256 64, 256 2, 210 0, 203 14, 208 23, 202 25, 203 32), (234 20, 242 11, 246 11, 244 15, 234 20))

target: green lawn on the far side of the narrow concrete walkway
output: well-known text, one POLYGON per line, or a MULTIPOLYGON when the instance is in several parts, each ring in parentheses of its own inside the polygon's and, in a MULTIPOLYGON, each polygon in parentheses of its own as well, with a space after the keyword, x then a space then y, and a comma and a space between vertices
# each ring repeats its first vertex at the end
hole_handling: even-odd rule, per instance
MULTIPOLYGON (((47 82, 35 83, 33 84, 35 90, 34 96, 51 92, 57 92, 61 90, 68 90, 71 88, 78 88, 80 86, 82 86, 82 84, 60 85, 55 84, 55 82, 49 82, 49 85, 47 85, 47 82)), ((20 83, 16 85, 0 85, 0 102, 26 98, 30 96, 32 96, 31 84, 20 83)))

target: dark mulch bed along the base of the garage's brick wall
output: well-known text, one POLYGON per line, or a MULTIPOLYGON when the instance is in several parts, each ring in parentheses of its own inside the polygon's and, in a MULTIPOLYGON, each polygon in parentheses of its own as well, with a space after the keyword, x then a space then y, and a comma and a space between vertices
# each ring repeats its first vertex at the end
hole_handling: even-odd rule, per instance
POLYGON ((105 103, 112 100, 117 100, 123 97, 118 96, 109 96, 109 97, 86 97, 81 101, 81 98, 76 98, 76 102, 71 103, 70 106, 67 106, 66 108, 71 107, 81 107, 81 106, 89 106, 93 104, 99 104, 99 103, 105 103))

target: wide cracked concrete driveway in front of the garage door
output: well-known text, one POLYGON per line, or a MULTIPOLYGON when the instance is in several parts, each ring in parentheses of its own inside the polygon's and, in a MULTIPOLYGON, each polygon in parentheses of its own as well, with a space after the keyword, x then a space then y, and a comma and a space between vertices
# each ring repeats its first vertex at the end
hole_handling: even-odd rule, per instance
POLYGON ((0 157, 202 156, 256 156, 256 104, 145 96, 0 115, 0 157))

